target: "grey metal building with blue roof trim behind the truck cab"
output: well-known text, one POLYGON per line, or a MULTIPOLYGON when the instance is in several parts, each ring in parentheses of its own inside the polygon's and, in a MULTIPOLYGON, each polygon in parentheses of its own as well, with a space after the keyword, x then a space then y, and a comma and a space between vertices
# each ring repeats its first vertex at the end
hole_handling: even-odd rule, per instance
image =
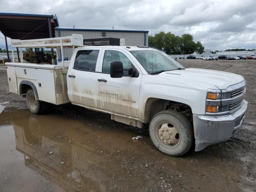
MULTIPOLYGON (((116 29, 88 29, 88 28, 68 28, 56 27, 55 37, 72 36, 72 34, 82 34, 84 39, 95 38, 124 38, 125 46, 148 46, 147 30, 116 30, 116 29)), ((71 59, 72 49, 65 49, 64 55, 71 59)))

